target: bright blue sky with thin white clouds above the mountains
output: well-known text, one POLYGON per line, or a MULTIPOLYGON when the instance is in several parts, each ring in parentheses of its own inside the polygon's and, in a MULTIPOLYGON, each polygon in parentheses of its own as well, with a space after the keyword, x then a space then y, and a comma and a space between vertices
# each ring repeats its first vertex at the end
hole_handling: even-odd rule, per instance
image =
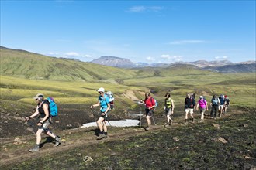
POLYGON ((255 60, 255 1, 1 0, 1 46, 82 61, 255 60))

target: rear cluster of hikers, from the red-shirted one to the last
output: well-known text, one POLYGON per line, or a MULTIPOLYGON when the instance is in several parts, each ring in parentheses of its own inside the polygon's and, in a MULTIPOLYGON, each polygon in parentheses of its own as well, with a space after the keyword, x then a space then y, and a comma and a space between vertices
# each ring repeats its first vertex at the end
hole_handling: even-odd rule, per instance
MULTIPOLYGON (((167 117, 167 123, 166 126, 170 126, 172 123, 171 115, 174 114, 174 109, 175 109, 175 101, 171 98, 171 93, 166 93, 165 94, 165 99, 164 99, 164 112, 167 117)), ((145 114, 146 114, 146 119, 147 119, 147 128, 146 130, 150 129, 151 125, 151 117, 154 113, 154 108, 156 107, 155 100, 152 100, 153 97, 150 97, 150 93, 145 93, 145 100, 141 100, 142 104, 145 104, 145 114)), ((220 97, 217 97, 216 94, 213 95, 213 98, 210 101, 210 107, 211 107, 211 112, 209 116, 211 118, 216 119, 217 117, 217 112, 218 112, 218 117, 221 117, 223 114, 227 112, 227 108, 230 105, 230 99, 227 97, 227 95, 221 94, 220 97)), ((199 122, 204 121, 204 116, 206 113, 206 110, 209 110, 207 101, 205 97, 200 96, 199 100, 195 104, 195 93, 191 94, 188 93, 187 97, 185 97, 184 101, 184 108, 185 108, 185 124, 188 124, 188 117, 192 118, 192 122, 195 122, 195 118, 193 116, 193 113, 195 110, 199 110, 201 114, 201 119, 199 122)))

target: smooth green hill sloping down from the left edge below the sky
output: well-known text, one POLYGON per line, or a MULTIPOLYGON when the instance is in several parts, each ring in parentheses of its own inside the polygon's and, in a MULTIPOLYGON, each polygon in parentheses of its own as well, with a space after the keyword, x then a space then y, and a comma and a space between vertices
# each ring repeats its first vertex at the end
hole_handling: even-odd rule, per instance
POLYGON ((118 80, 136 76, 136 70, 59 59, 24 50, 1 47, 0 52, 0 74, 5 76, 63 81, 118 80))

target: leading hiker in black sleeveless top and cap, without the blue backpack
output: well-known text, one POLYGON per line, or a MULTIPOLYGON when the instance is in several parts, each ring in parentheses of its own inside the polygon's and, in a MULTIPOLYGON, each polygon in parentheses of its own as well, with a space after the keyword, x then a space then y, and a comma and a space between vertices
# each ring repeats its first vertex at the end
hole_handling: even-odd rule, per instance
POLYGON ((38 114, 40 114, 40 122, 38 122, 38 130, 36 131, 36 145, 34 148, 29 149, 30 152, 39 151, 40 149, 40 141, 41 141, 41 134, 44 132, 48 136, 54 138, 55 140, 55 147, 61 144, 61 138, 57 137, 56 134, 54 134, 52 131, 49 130, 49 125, 52 123, 51 117, 50 117, 50 107, 49 107, 49 101, 44 100, 43 94, 38 93, 36 94, 36 97, 33 97, 33 99, 36 100, 37 106, 35 112, 25 118, 25 121, 29 121, 29 119, 32 119, 33 117, 36 117, 38 114))

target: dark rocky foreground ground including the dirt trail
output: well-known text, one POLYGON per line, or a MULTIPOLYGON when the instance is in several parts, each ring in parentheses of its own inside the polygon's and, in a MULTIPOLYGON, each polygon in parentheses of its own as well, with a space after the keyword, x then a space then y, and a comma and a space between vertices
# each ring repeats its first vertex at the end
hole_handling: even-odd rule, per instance
MULTIPOLYGON (((157 114, 154 116, 157 124, 150 131, 145 131, 144 127, 109 127, 109 138, 101 141, 96 140, 99 132, 97 128, 74 128, 76 125, 68 127, 65 124, 65 128, 61 129, 59 118, 60 123, 54 124, 54 131, 61 136, 63 143, 57 148, 53 147, 51 138, 43 135, 40 151, 29 153, 29 148, 35 144, 35 136, 31 131, 0 138, 0 168, 256 168, 255 110, 230 109, 217 120, 206 117, 204 123, 199 123, 199 114, 196 118, 195 123, 184 124, 184 115, 177 110, 174 123, 164 127, 165 117, 157 114)), ((28 125, 24 124, 24 128, 28 128, 28 125)), ((5 133, 12 134, 12 131, 5 133)))

